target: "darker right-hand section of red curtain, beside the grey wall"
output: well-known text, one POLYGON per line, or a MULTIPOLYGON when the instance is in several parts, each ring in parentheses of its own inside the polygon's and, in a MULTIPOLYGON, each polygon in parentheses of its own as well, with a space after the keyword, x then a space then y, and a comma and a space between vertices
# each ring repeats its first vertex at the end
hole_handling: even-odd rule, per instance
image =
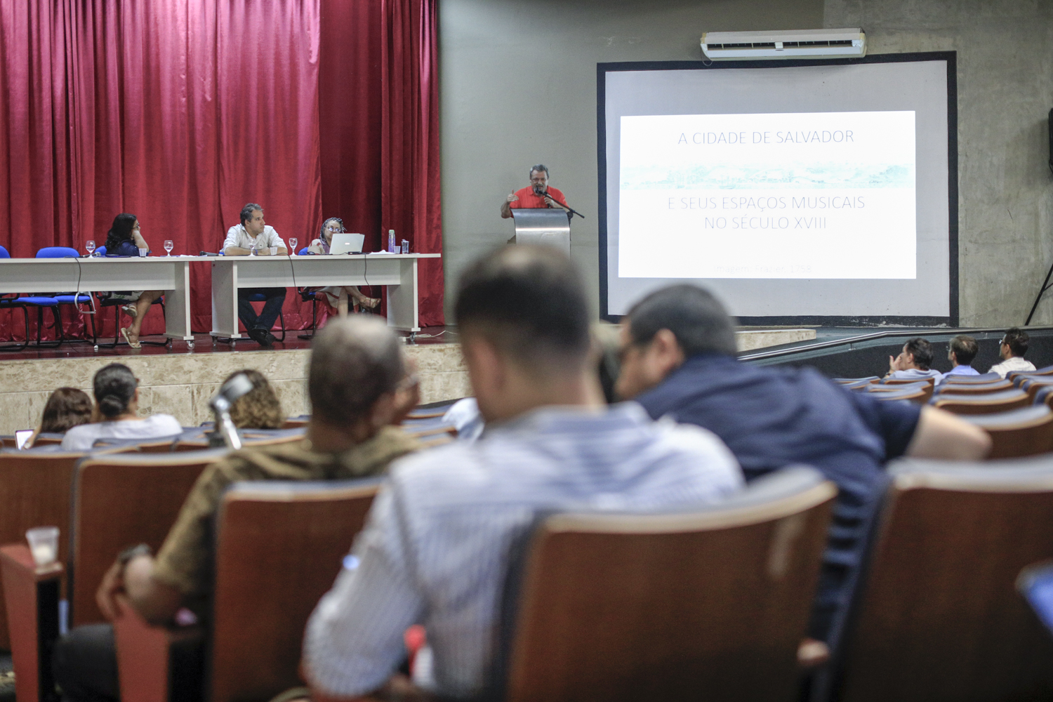
MULTIPOLYGON (((321 16, 324 216, 365 234, 367 250, 395 229, 411 250, 441 253, 436 0, 321 0, 321 16)), ((443 324, 441 259, 421 261, 418 282, 421 325, 443 324)))

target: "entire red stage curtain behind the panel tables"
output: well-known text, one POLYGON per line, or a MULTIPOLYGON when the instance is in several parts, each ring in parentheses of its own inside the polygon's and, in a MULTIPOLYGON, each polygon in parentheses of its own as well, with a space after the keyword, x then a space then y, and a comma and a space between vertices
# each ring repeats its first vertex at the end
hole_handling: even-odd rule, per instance
MULTIPOLYGON (((155 253, 164 239, 214 252, 255 201, 300 246, 324 205, 374 246, 395 228, 440 252, 434 3, 0 3, 0 244, 83 250, 132 212, 155 253)), ((192 283, 207 332, 207 264, 192 283)), ((422 321, 441 323, 441 264, 421 287, 422 321)), ((310 323, 298 296, 284 312, 289 328, 310 323)), ((144 333, 162 329, 152 312, 144 333)), ((0 313, 0 338, 21 335, 0 313)))

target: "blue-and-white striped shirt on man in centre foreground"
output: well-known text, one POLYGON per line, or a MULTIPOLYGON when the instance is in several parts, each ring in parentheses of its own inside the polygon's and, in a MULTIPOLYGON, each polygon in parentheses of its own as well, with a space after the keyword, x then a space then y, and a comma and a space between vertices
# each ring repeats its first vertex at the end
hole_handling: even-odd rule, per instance
POLYGON ((303 647, 309 679, 351 697, 376 689, 423 624, 438 691, 482 691, 495 655, 512 544, 539 512, 690 509, 742 485, 713 434, 652 422, 636 403, 543 407, 475 443, 401 459, 319 602, 303 647))

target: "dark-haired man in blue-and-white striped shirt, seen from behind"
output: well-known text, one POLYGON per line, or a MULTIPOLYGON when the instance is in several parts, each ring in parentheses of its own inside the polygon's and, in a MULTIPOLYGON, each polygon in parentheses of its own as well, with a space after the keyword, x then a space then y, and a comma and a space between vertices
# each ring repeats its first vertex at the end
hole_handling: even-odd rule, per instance
POLYGON ((456 316, 485 430, 393 465, 356 558, 307 624, 316 701, 398 685, 412 624, 428 633, 439 695, 496 691, 501 588, 513 544, 539 514, 689 510, 742 484, 710 432, 652 422, 633 402, 605 405, 588 296, 558 249, 505 246, 476 261, 456 316))

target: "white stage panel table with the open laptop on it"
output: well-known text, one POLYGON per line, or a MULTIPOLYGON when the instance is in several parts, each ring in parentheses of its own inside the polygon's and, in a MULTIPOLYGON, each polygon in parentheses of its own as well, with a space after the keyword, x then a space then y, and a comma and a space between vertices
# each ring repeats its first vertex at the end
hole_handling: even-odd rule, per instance
MULTIPOLYGON (((384 285, 388 325, 416 334, 417 262, 441 254, 217 256, 212 261, 212 336, 240 339, 238 288, 384 285)), ((202 260, 202 259, 198 259, 202 260)))

